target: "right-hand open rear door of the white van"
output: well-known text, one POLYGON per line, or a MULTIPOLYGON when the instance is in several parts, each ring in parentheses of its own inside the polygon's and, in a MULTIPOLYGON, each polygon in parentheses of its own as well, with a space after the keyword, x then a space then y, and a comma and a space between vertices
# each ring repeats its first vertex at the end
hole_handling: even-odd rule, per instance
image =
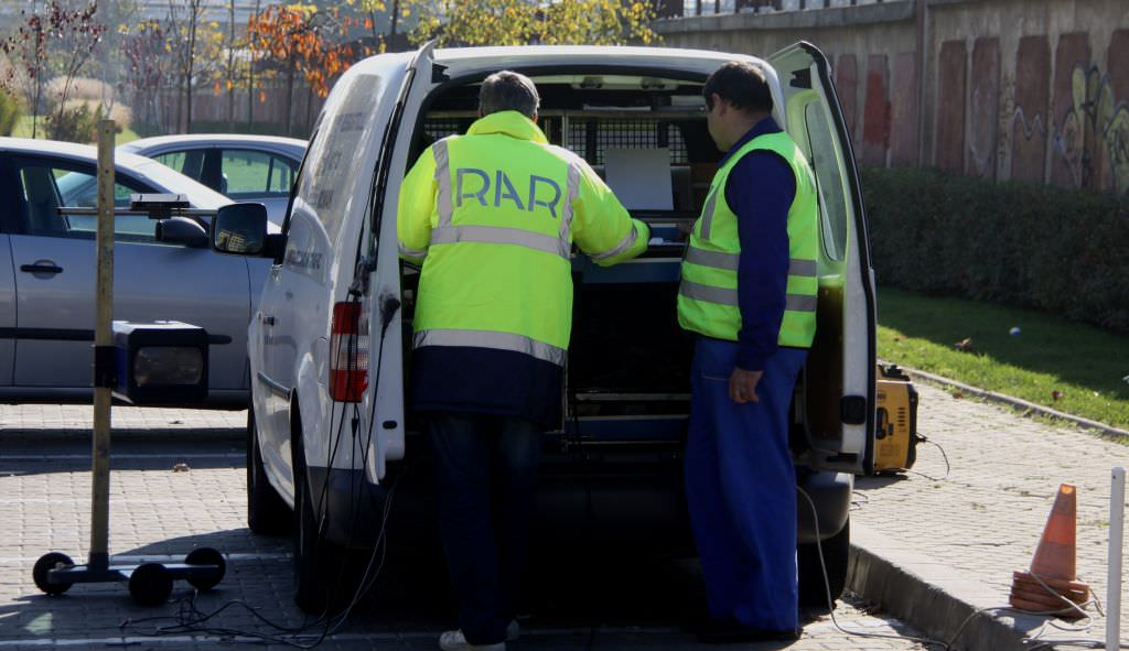
POLYGON ((828 60, 800 42, 772 54, 785 129, 819 190, 820 296, 815 342, 797 405, 813 469, 861 473, 875 419, 875 292, 858 170, 828 60))

